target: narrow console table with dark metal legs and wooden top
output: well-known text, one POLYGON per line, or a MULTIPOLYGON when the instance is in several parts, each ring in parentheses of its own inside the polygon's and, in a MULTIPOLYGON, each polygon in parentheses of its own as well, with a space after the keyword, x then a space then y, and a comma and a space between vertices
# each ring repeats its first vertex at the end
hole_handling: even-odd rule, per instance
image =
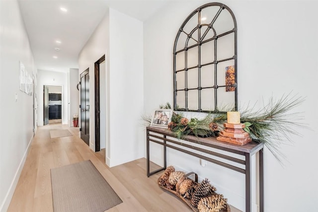
POLYGON ((217 141, 216 138, 198 138, 194 136, 186 136, 183 140, 189 141, 192 143, 198 143, 200 145, 189 145, 182 141, 175 141, 170 138, 175 138, 174 134, 166 129, 156 128, 156 127, 147 127, 147 176, 151 176, 160 171, 166 169, 166 147, 184 152, 186 154, 190 154, 196 156, 198 158, 210 161, 212 163, 224 166, 226 168, 238 171, 242 174, 245 174, 245 208, 246 212, 251 212, 252 201, 251 201, 251 157, 253 154, 259 154, 259 207, 260 212, 264 212, 264 166, 263 166, 263 143, 257 143, 255 141, 249 142, 245 145, 236 145, 232 143, 217 141), (149 152, 149 143, 155 142, 163 145, 163 167, 150 171, 150 152, 149 152), (218 153, 214 150, 205 149, 205 146, 209 146, 215 149, 224 150, 227 152, 231 152, 237 155, 244 155, 245 159, 239 159, 234 156, 229 156, 226 154, 218 153), (183 147, 187 147, 188 149, 184 149, 183 147), (196 153, 195 151, 203 152, 208 154, 208 156, 204 156, 196 153), (223 158, 226 160, 220 161, 218 159, 212 158, 210 156, 216 156, 218 158, 223 158), (228 162, 227 162, 228 161, 228 162), (229 163, 232 161, 231 163, 229 163), (243 164, 245 168, 240 168, 243 164))

